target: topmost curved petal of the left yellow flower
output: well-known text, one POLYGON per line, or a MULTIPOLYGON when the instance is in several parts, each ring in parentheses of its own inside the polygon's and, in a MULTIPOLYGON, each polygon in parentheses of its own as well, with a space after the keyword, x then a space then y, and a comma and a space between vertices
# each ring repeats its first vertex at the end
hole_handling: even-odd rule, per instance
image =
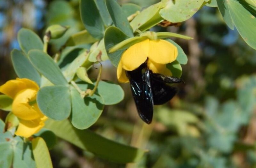
POLYGON ((16 78, 16 80, 9 80, 4 85, 0 86, 0 92, 14 99, 18 92, 26 88, 31 88, 36 91, 39 90, 36 82, 26 78, 16 78))

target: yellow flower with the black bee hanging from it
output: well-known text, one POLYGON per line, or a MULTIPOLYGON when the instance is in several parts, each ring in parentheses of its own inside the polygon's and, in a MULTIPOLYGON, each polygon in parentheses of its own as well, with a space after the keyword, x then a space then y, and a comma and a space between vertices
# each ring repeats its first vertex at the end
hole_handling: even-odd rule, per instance
POLYGON ((148 68, 154 73, 172 76, 172 72, 166 68, 166 64, 176 60, 177 47, 165 40, 146 39, 138 42, 124 51, 117 67, 117 79, 126 83, 129 79, 126 71, 133 71, 147 60, 148 68))

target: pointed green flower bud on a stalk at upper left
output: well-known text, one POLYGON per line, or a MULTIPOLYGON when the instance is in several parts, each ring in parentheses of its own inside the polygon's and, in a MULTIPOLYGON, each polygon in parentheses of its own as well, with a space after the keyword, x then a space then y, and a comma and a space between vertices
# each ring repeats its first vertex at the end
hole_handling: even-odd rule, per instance
POLYGON ((68 28, 69 26, 52 25, 46 29, 45 34, 49 34, 51 39, 57 39, 63 36, 68 28))

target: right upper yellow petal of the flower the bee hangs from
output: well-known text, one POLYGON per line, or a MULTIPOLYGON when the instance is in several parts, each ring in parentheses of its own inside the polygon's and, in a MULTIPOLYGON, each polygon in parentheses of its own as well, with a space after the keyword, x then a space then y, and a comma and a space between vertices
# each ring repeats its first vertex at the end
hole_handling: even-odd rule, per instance
POLYGON ((148 58, 158 64, 173 62, 178 56, 175 45, 166 40, 150 40, 148 58))

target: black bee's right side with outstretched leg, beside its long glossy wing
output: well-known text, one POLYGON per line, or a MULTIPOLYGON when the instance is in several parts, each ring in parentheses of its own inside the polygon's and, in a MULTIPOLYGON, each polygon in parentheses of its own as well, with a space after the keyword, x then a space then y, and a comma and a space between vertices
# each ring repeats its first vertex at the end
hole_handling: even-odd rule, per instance
POLYGON ((166 83, 179 83, 180 78, 164 76, 150 72, 151 86, 154 99, 154 105, 160 105, 168 102, 177 93, 175 87, 169 86, 166 83))

